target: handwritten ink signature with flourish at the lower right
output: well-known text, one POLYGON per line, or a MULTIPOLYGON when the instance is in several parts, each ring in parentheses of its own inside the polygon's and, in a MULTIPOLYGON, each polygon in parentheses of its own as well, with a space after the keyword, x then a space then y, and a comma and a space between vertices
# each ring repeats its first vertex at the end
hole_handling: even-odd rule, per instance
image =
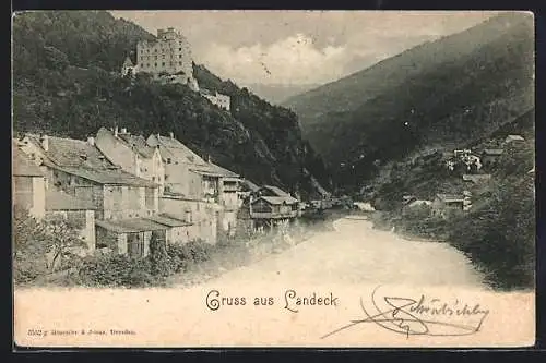
POLYGON ((377 299, 377 287, 371 293, 371 304, 376 313, 370 314, 360 298, 360 307, 365 318, 351 320, 324 336, 328 338, 343 330, 363 324, 376 324, 387 330, 410 336, 456 337, 476 334, 482 328, 489 310, 482 308, 479 304, 462 304, 442 302, 440 299, 419 299, 383 297, 377 299), (378 303, 379 302, 379 303, 378 303), (384 306, 380 307, 380 303, 384 306))

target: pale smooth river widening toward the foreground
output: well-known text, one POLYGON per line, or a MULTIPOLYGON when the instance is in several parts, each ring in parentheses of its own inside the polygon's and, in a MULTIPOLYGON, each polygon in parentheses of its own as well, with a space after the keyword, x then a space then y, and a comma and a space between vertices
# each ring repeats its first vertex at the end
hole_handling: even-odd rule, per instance
POLYGON ((222 283, 396 283, 482 288, 482 276, 448 243, 404 240, 365 219, 341 218, 334 230, 211 280, 222 283))

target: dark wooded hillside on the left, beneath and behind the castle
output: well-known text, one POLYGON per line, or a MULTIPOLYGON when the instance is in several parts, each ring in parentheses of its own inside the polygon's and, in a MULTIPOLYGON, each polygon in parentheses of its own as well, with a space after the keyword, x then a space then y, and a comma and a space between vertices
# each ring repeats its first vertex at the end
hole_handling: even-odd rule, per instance
POLYGON ((136 43, 146 38, 154 36, 105 11, 17 13, 14 133, 85 138, 114 125, 144 136, 174 132, 200 155, 256 183, 311 197, 317 192, 312 177, 328 181, 294 112, 222 81, 205 66, 194 65, 195 78, 204 88, 229 95, 230 112, 186 85, 162 85, 145 74, 121 77, 124 57, 134 58, 136 43))

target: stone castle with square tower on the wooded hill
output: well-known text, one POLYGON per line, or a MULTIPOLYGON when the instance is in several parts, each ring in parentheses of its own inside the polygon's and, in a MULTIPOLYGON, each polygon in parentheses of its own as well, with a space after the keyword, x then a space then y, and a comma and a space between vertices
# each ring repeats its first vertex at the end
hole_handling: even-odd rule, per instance
POLYGON ((229 96, 200 89, 193 77, 193 58, 188 39, 173 27, 157 29, 157 37, 152 40, 141 40, 136 45, 136 64, 129 57, 121 68, 121 75, 136 73, 152 74, 155 80, 168 83, 187 84, 192 90, 200 92, 201 96, 213 105, 229 110, 229 96))

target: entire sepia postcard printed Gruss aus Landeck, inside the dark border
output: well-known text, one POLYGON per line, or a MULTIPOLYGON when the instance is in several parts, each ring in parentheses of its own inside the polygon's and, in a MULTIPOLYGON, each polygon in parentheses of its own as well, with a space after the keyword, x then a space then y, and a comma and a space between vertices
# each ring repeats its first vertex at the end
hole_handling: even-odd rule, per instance
POLYGON ((12 14, 19 348, 535 344, 522 11, 12 14))

